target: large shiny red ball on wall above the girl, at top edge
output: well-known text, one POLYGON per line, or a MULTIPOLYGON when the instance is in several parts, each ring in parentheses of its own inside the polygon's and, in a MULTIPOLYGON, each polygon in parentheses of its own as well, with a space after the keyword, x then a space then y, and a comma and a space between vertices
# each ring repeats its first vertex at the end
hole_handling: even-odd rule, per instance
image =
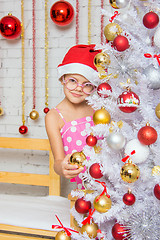
POLYGON ((68 25, 74 17, 74 9, 67 1, 55 2, 50 9, 52 21, 59 26, 68 25))

